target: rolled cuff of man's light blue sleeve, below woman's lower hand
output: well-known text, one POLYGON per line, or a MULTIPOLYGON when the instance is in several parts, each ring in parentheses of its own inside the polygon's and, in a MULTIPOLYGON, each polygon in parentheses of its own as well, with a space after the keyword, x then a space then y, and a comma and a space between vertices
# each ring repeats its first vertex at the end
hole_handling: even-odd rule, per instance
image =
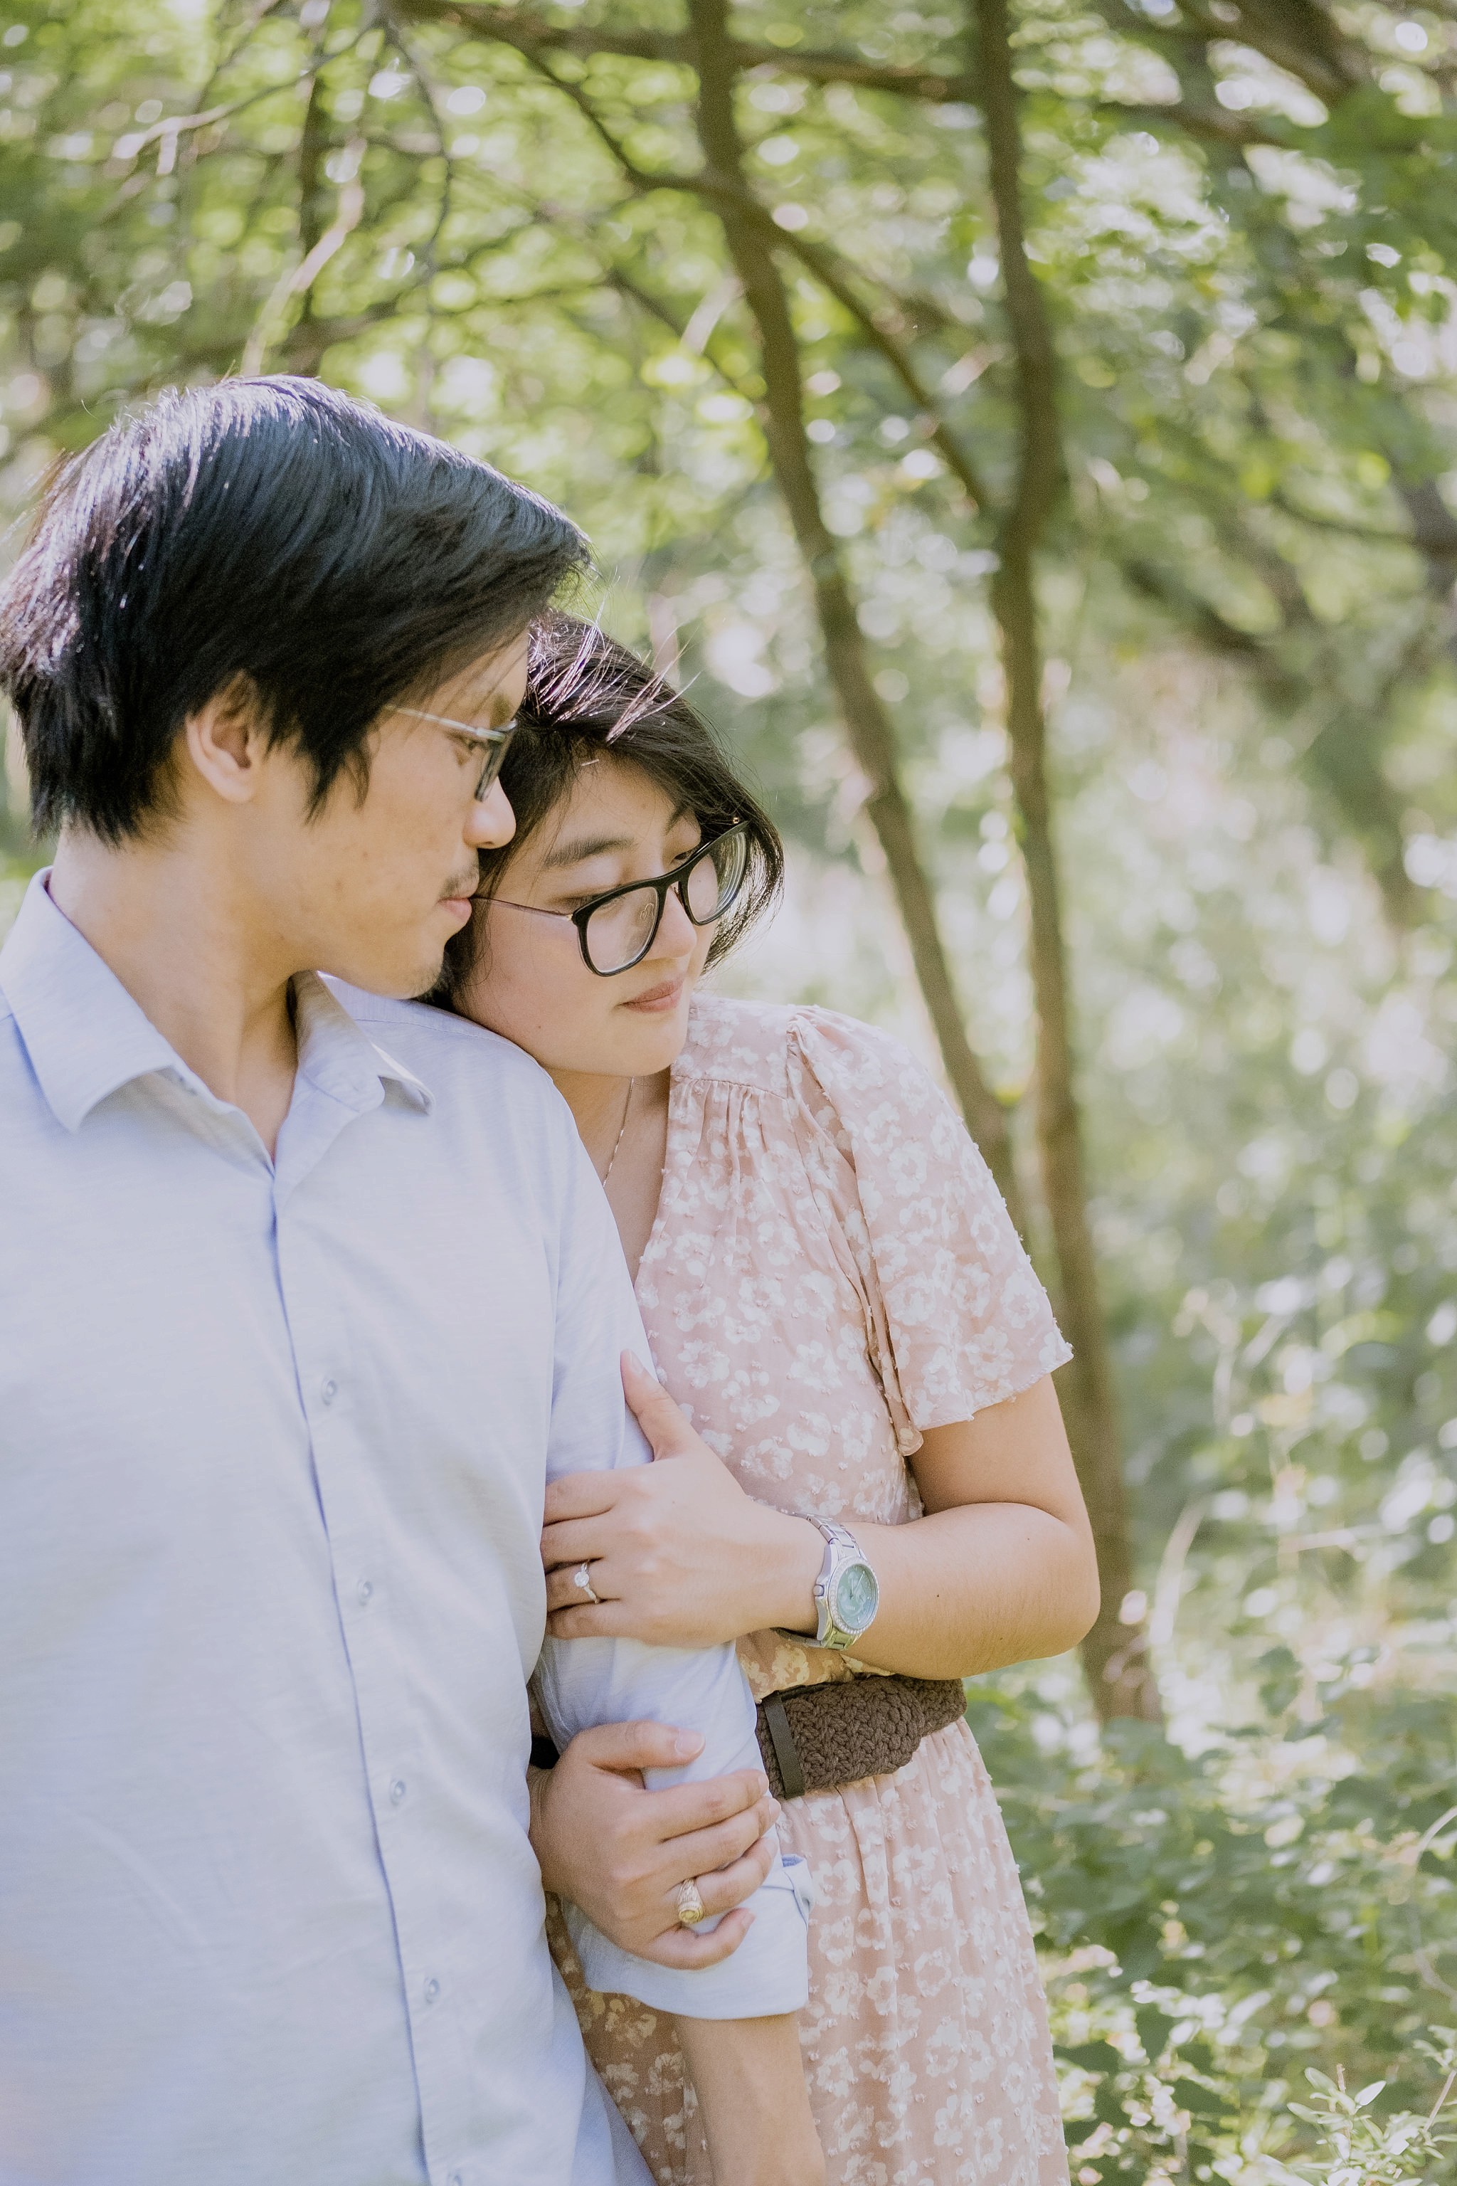
POLYGON ((695 1972, 633 1959, 609 1943, 574 1904, 564 1902, 561 1913, 590 1989, 633 1996, 651 2011, 682 2013, 688 2020, 762 2020, 799 2011, 808 2000, 810 1904, 806 1860, 775 1860, 749 1897, 754 1926, 738 1950, 719 1965, 695 1972))

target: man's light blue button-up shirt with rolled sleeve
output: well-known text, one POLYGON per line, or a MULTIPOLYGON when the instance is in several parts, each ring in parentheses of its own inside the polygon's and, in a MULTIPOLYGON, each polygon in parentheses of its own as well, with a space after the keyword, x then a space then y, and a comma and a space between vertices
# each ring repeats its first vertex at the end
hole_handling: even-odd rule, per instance
MULTIPOLYGON (((271 1161, 44 879, 0 951, 0 2186, 647 2177, 524 1782, 544 1482, 644 1456, 642 1329, 546 1076, 354 999, 297 982, 271 1161)), ((758 1762, 730 1648, 537 1685, 758 1762)), ((784 1869, 754 1911, 706 1974, 577 1932, 658 2009, 795 2009, 784 1869)))

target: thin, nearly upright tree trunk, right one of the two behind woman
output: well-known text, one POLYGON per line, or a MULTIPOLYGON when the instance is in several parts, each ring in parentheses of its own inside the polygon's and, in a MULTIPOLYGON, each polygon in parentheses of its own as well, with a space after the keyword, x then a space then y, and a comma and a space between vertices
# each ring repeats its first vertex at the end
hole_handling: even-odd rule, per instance
POLYGON ((1073 1073, 1068 966, 1046 787, 1035 553, 1062 492, 1055 354, 1022 232, 1020 127, 1007 0, 972 0, 972 7, 992 203, 1020 407, 1018 477, 998 536, 1000 560, 992 579, 992 610, 1007 678, 1011 787, 1031 912, 1031 982, 1038 1003, 1038 1154, 1062 1277, 1062 1323, 1075 1353, 1059 1382, 1077 1473, 1092 1519, 1101 1583, 1099 1620, 1083 1640, 1083 1668, 1101 1718, 1142 1716, 1158 1720, 1158 1688, 1147 1664, 1142 1620, 1134 1624, 1121 1620, 1134 1570, 1118 1406, 1099 1296, 1097 1250, 1088 1222, 1088 1185, 1073 1073))

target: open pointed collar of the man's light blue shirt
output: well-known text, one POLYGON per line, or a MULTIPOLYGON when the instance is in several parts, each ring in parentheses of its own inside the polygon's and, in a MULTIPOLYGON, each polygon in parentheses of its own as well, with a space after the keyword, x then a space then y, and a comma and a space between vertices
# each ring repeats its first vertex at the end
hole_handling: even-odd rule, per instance
MULTIPOLYGON (((57 1124, 79 1130, 98 1102, 153 1071, 227 1110, 57 909, 46 881, 48 870, 35 874, 0 949, 0 995, 57 1124)), ((315 973, 295 979, 295 995, 299 1073, 310 1084, 350 1108, 374 1106, 382 1082, 415 1108, 433 1106, 419 1078, 376 1047, 315 973)))

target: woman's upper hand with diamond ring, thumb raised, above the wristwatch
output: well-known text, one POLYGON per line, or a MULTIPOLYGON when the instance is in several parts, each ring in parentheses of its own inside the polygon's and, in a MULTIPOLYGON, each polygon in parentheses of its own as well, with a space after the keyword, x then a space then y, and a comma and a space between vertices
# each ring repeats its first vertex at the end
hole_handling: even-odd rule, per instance
POLYGON ((819 1532, 745 1495, 631 1353, 623 1386, 653 1465, 548 1484, 542 1563, 553 1637, 719 1646, 773 1624, 813 1633, 819 1532), (596 1607, 572 1583, 583 1563, 596 1607))

